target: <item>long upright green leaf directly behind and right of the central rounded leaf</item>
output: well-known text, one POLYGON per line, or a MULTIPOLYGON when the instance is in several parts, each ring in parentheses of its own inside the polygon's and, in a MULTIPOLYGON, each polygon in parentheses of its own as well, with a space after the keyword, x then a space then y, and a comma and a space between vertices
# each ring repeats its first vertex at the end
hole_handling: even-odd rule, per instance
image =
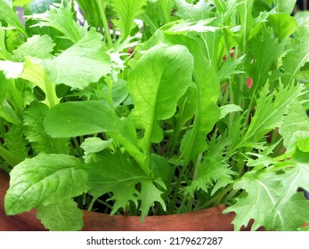
POLYGON ((192 157, 207 149, 206 136, 219 121, 220 109, 216 105, 220 86, 215 68, 204 56, 202 44, 188 36, 165 35, 164 40, 171 44, 185 45, 194 57, 194 81, 196 86, 196 109, 194 123, 183 139, 182 157, 188 163, 192 157))

